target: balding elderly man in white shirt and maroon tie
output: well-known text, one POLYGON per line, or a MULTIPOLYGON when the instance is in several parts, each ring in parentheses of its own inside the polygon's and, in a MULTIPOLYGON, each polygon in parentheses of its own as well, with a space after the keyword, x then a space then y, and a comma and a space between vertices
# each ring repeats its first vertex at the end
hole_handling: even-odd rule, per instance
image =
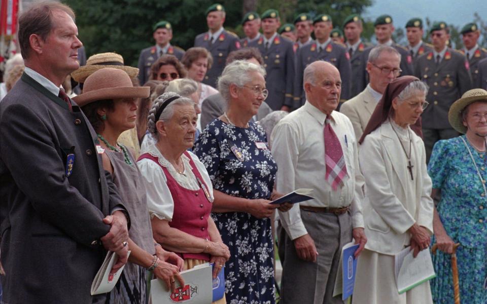
POLYGON ((350 120, 334 111, 340 100, 340 73, 316 61, 304 70, 305 104, 273 131, 277 191, 312 188, 316 199, 280 213, 288 237, 281 303, 343 303, 333 297, 341 248, 365 246, 362 185, 357 139, 350 120))

